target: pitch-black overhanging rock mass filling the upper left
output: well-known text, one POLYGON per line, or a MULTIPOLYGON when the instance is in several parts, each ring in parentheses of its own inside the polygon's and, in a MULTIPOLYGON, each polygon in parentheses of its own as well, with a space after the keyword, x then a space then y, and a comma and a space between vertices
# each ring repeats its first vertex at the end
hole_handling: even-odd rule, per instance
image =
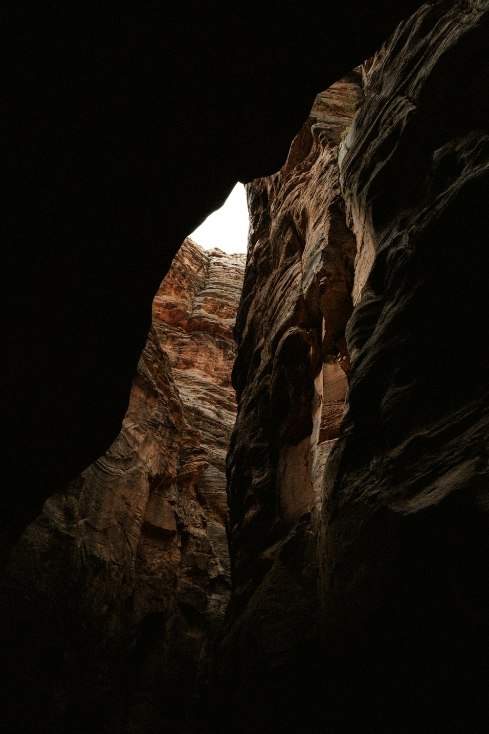
POLYGON ((0 563, 119 434, 185 236, 418 5, 4 3, 0 563))

